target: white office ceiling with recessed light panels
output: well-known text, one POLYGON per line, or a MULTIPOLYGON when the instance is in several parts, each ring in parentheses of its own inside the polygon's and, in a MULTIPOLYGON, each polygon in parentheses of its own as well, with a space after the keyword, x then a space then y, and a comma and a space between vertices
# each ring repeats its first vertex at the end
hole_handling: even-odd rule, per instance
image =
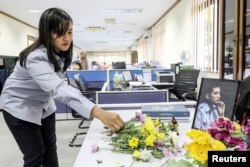
POLYGON ((73 18, 75 46, 86 51, 127 51, 176 1, 0 0, 0 11, 38 27, 42 11, 59 7, 73 18), (117 9, 139 9, 141 12, 124 13, 117 9), (30 13, 28 10, 40 12, 30 13), (88 27, 99 28, 88 30, 88 27))

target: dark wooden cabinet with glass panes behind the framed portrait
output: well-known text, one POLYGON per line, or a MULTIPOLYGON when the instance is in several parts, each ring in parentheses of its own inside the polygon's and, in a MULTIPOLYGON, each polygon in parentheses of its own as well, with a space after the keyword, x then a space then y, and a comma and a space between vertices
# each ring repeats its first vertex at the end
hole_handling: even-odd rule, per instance
POLYGON ((220 78, 250 75, 250 0, 220 0, 220 78))

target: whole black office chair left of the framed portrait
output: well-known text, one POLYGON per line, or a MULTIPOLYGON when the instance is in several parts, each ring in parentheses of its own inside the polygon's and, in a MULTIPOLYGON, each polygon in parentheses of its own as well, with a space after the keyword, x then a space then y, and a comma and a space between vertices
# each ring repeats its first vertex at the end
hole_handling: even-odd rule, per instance
POLYGON ((200 70, 180 70, 176 76, 175 83, 172 89, 169 89, 170 98, 169 101, 197 101, 197 79, 200 70), (175 95, 177 99, 173 99, 171 94, 175 95))

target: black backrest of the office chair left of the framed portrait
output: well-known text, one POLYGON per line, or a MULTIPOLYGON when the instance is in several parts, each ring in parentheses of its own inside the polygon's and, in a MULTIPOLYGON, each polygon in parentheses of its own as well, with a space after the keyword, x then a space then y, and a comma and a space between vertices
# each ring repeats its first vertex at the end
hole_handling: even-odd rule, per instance
POLYGON ((197 79, 200 70, 190 69, 190 70, 180 70, 176 76, 174 89, 182 96, 184 93, 194 92, 197 87, 197 79))

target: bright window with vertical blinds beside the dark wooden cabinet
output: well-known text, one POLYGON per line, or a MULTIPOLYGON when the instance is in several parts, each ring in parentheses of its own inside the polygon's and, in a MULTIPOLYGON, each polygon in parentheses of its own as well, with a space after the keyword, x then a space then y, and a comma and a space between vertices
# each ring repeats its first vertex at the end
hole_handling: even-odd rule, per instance
POLYGON ((197 68, 218 72, 218 0, 193 0, 194 54, 197 68))

